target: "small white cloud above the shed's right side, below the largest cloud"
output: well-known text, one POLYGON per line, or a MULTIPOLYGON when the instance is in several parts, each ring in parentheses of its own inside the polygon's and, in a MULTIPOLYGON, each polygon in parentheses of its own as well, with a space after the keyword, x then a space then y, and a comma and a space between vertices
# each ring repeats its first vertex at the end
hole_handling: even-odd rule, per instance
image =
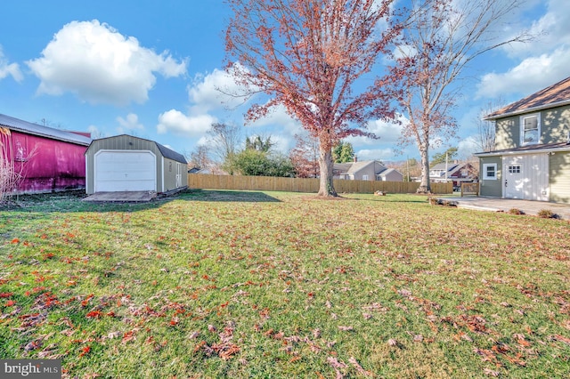
POLYGON ((216 121, 216 117, 208 114, 188 116, 179 110, 170 109, 159 115, 157 132, 159 134, 172 132, 177 135, 199 137, 206 133, 210 125, 216 121))

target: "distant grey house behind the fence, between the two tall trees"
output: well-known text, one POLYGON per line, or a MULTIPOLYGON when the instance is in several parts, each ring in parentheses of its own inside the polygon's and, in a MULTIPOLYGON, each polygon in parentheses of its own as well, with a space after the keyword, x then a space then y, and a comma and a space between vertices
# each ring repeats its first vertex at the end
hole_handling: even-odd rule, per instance
POLYGON ((349 181, 403 181, 403 174, 377 160, 335 163, 333 178, 349 181))

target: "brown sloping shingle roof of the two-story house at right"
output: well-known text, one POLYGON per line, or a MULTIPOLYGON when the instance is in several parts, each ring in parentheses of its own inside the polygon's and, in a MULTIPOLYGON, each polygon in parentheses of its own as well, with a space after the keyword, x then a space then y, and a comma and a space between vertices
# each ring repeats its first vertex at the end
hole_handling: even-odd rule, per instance
POLYGON ((486 116, 485 120, 496 120, 501 117, 515 116, 566 104, 570 104, 570 77, 493 112, 486 116))

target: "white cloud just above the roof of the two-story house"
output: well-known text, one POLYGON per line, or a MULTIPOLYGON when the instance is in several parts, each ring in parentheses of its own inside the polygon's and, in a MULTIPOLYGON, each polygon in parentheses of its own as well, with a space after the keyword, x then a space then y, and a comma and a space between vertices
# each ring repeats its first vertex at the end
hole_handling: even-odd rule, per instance
POLYGON ((525 95, 568 77, 570 46, 530 57, 505 73, 486 74, 477 85, 477 97, 496 98, 511 93, 525 95))

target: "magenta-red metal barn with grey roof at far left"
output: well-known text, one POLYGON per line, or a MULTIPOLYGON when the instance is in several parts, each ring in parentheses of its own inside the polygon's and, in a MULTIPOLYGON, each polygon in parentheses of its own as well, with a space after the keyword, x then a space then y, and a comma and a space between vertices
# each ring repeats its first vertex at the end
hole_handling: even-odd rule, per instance
POLYGON ((0 114, 0 159, 20 180, 16 193, 85 189, 89 133, 72 133, 0 114))

